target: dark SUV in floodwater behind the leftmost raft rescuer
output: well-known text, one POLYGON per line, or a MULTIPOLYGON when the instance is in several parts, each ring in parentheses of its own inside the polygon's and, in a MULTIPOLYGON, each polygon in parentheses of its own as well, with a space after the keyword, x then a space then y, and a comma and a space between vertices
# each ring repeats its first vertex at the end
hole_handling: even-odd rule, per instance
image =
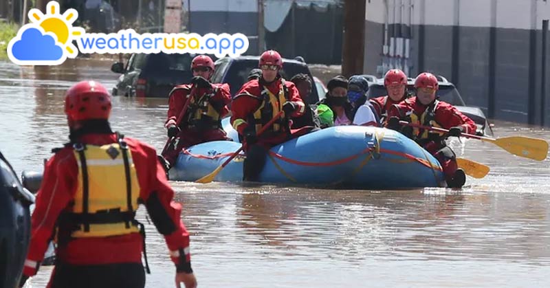
POLYGON ((191 54, 132 54, 126 67, 120 62, 111 71, 122 76, 113 96, 168 98, 175 85, 191 81, 191 54))

